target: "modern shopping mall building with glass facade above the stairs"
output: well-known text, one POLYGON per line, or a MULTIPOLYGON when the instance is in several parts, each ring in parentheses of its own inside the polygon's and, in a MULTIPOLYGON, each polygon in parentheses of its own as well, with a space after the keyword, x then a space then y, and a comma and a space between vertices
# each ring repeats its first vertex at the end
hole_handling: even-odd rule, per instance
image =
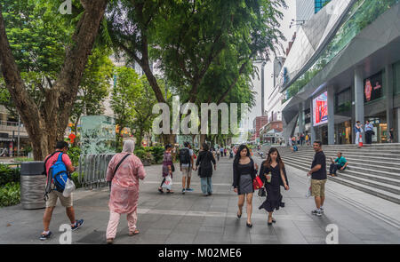
POLYGON ((284 139, 354 143, 370 120, 374 143, 400 131, 400 0, 332 0, 297 32, 278 82, 284 139))

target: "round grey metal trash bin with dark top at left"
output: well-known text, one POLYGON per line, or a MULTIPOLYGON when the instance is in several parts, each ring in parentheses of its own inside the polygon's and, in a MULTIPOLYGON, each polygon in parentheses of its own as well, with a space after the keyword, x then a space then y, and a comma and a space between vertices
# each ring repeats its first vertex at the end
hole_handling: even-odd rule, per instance
POLYGON ((25 210, 45 208, 44 190, 46 177, 43 161, 32 161, 20 165, 20 202, 25 210))

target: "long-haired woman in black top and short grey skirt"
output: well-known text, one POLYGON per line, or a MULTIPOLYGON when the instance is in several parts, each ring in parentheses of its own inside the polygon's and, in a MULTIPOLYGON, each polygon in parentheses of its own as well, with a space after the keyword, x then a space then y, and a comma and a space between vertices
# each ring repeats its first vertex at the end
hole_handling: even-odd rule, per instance
POLYGON ((255 179, 258 169, 259 166, 250 157, 249 148, 245 145, 240 146, 233 163, 234 176, 232 186, 235 188, 237 195, 239 195, 237 218, 242 217, 244 198, 246 199, 246 225, 248 227, 252 227, 252 195, 254 193, 252 180, 255 179))

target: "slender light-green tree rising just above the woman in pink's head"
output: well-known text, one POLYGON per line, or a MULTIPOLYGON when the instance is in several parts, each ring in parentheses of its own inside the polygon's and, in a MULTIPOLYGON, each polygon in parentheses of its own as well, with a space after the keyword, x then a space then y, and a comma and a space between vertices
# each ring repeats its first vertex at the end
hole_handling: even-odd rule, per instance
POLYGON ((119 132, 116 144, 121 145, 122 131, 130 127, 134 115, 134 100, 140 96, 142 83, 131 67, 116 67, 116 84, 111 94, 110 105, 116 116, 119 132))

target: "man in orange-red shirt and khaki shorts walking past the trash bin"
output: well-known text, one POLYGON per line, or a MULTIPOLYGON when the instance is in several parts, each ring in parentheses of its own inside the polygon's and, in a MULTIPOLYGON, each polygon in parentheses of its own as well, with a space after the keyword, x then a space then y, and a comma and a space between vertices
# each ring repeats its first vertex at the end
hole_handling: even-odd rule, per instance
POLYGON ((52 236, 52 232, 50 231, 50 221, 52 220, 52 211, 54 210, 57 204, 57 199, 59 198, 60 198, 60 203, 63 207, 65 207, 67 216, 69 218, 69 221, 71 222, 71 230, 75 231, 76 229, 84 225, 84 219, 76 220, 75 210, 72 201, 73 193, 71 193, 71 195, 69 195, 68 197, 62 195, 62 193, 57 191, 56 187, 54 186, 52 177, 50 177, 52 176, 52 174, 49 174, 52 165, 54 163, 57 163, 59 160, 62 161, 62 163, 66 166, 67 171, 69 173, 75 171, 75 167, 72 165, 72 162, 69 159, 67 152, 68 152, 68 143, 65 141, 58 141, 56 143, 55 152, 52 153, 52 155, 47 155, 44 160, 44 168, 45 168, 44 171, 45 175, 47 176, 46 188, 47 187, 50 188, 51 191, 47 195, 46 209, 44 210, 44 215, 43 215, 44 231, 40 235, 40 240, 42 241, 47 240, 52 236))

